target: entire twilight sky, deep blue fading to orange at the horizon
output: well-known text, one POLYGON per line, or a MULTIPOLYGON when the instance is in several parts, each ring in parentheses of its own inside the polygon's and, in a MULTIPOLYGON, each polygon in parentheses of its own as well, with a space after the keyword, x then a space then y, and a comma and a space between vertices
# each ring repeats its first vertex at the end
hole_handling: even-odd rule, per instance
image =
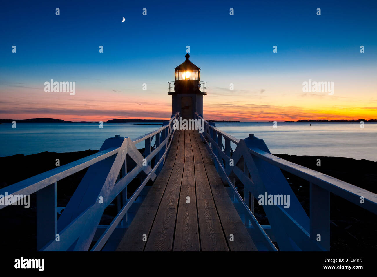
POLYGON ((207 82, 205 119, 377 118, 376 14, 375 0, 6 1, 0 118, 170 118, 186 46, 207 82), (45 92, 51 79, 75 94, 45 92), (304 92, 309 80, 333 94, 304 92))

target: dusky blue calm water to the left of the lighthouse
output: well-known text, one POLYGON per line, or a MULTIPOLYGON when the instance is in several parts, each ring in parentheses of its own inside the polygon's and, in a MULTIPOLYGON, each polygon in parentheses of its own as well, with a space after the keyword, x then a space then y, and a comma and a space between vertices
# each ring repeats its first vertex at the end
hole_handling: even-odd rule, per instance
MULTIPOLYGON (((0 156, 35 154, 43 151, 72 152, 100 149, 115 135, 138 138, 161 127, 161 123, 11 123, 0 125, 0 156)), ((136 145, 144 148, 143 143, 136 145)))

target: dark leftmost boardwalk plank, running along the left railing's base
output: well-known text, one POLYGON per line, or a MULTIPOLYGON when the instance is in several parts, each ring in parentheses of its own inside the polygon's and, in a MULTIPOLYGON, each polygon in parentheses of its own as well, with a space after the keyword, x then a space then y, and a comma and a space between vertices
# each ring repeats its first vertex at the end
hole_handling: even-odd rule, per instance
MULTIPOLYGON (((173 164, 178 155, 179 137, 180 133, 179 130, 177 130, 166 158, 167 161, 173 161, 173 164)), ((153 220, 155 219, 159 203, 164 194, 167 182, 169 181, 172 169, 173 166, 169 164, 167 165, 166 162, 132 220, 130 227, 124 234, 116 251, 143 251, 146 244, 146 242, 143 241, 143 235, 146 234, 148 236, 152 228, 153 220)))

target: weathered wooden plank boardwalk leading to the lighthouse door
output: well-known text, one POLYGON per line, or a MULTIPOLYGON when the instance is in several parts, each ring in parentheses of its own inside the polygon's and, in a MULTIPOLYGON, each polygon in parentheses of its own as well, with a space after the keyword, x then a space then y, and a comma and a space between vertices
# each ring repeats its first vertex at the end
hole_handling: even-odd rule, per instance
POLYGON ((197 131, 176 130, 117 250, 256 251, 197 131))

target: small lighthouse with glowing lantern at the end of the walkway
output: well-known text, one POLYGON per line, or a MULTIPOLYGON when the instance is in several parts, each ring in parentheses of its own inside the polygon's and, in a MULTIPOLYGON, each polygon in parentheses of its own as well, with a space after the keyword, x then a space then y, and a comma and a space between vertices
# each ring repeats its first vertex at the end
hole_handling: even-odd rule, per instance
POLYGON ((206 82, 200 81, 200 68, 185 55, 186 60, 175 68, 175 81, 169 82, 172 95, 172 114, 179 112, 182 119, 195 118, 195 112, 203 115, 203 97, 207 95, 206 82))

